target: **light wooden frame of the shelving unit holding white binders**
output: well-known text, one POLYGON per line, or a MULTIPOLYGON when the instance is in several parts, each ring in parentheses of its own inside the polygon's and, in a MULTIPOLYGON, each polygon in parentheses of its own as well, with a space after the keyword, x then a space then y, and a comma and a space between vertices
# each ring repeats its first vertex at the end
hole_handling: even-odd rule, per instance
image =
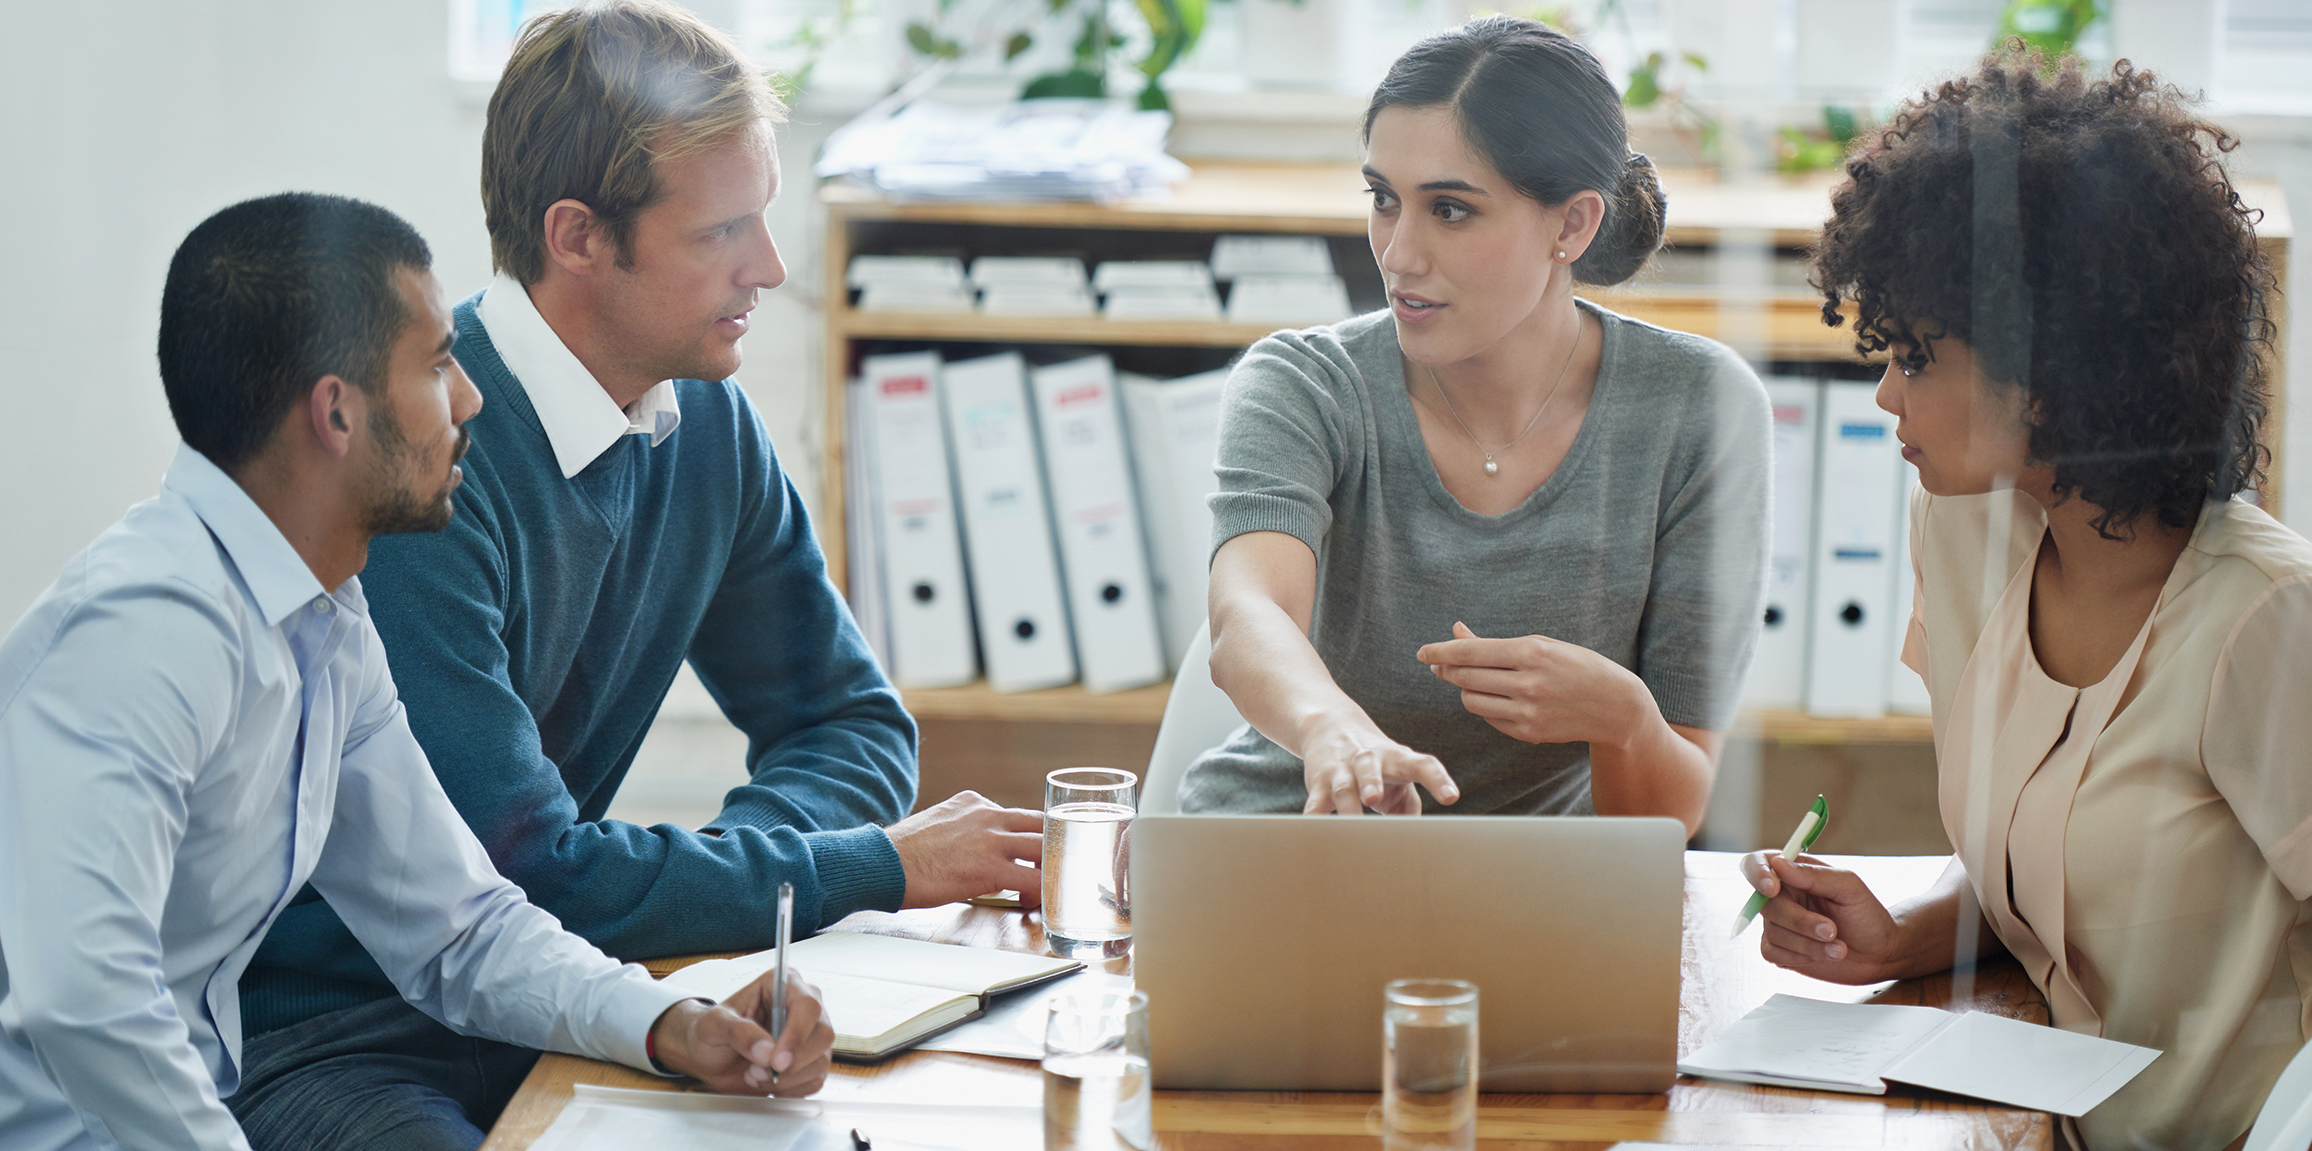
MULTIPOLYGON (((844 273, 855 252, 892 247, 971 247, 1017 238, 1027 250, 1052 250, 1070 238, 1101 254, 1184 252, 1216 233, 1304 233, 1362 243, 1364 180, 1348 164, 1191 164, 1193 176, 1165 199, 1098 203, 890 203, 853 187, 821 187, 825 210, 825 414, 818 532, 828 573, 846 587, 844 541, 844 381, 867 344, 1068 344, 1110 349, 1202 349, 1207 356, 1248 347, 1267 326, 1202 321, 1107 321, 1077 317, 980 317, 858 312, 844 273)), ((1669 196, 1667 243, 1716 250, 1750 245, 1801 250, 1829 215, 1831 173, 1722 185, 1713 173, 1662 171, 1669 196)), ((2275 266, 2287 268, 2291 236, 2277 187, 2247 185, 2243 199, 2261 208, 2261 236, 2275 266)), ((1001 252, 1003 247, 992 247, 1001 252)), ((1348 268, 1343 259, 1343 275, 1348 268)), ((1369 270, 1369 261, 1366 261, 1369 270)), ((1353 280, 1353 291, 1357 289, 1353 280)), ((1598 303, 1665 328, 1722 340, 1757 361, 1854 361, 1852 331, 1822 324, 1822 298, 1803 287, 1727 296, 1711 284, 1672 284, 1639 275, 1635 284, 1584 289, 1598 303)), ((2284 307, 2275 307, 2284 317, 2284 307)), ((2284 335, 2282 335, 2284 340, 2284 335)), ((2284 349, 2284 344, 2282 344, 2284 349)), ((2275 349, 2275 356, 2284 356, 2275 349)), ((2275 381, 2280 374, 2275 372, 2275 381)), ((2280 407, 2273 409, 2273 441, 2280 407)), ((2275 462, 2277 474, 2277 462, 2275 462)), ((2275 476, 2277 478, 2277 476, 2275 476)), ((985 684, 906 691, 920 719, 994 719, 1024 723, 1133 723, 1163 716, 1168 684, 1091 696, 1080 686, 996 693, 985 684)), ((1746 714, 1739 730, 1773 744, 1919 744, 1933 737, 1924 716, 1815 719, 1796 712, 1746 714)))

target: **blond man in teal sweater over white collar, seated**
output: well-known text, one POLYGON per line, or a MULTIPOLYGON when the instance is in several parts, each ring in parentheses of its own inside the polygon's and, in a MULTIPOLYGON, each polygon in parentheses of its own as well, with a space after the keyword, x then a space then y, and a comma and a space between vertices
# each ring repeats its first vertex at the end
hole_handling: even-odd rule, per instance
MULTIPOLYGON (((506 878, 620 959, 763 948, 779 881, 800 931, 1038 890, 1038 814, 962 793, 906 816, 913 721, 728 379, 786 277, 763 224, 777 118, 687 12, 615 0, 525 28, 483 134, 499 273, 455 307, 486 400, 458 515, 379 541, 365 576, 451 802, 506 878), (608 820, 684 659, 749 735, 747 781, 696 832, 608 820)), ((257 1038, 229 1105, 252 1144, 479 1146, 534 1054, 388 998, 303 899, 243 980, 257 1038)))

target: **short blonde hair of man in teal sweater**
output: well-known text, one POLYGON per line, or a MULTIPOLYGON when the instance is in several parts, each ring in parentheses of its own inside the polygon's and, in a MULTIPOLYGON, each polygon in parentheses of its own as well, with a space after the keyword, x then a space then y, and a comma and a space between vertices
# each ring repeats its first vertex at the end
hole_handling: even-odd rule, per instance
POLYGON ((546 208, 594 210, 620 266, 633 222, 666 196, 659 164, 703 153, 786 104, 698 16, 657 0, 601 0, 523 28, 481 129, 481 206, 497 270, 546 275, 546 208))

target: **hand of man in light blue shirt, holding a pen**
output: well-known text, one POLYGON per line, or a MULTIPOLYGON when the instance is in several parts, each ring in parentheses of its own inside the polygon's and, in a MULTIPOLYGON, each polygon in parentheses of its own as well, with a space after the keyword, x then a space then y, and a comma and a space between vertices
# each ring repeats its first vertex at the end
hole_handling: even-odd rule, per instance
POLYGON ((818 989, 786 973, 786 1031, 770 1035, 770 973, 721 1003, 684 998, 650 1024, 659 1065, 724 1096, 809 1096, 828 1082, 835 1029, 818 989), (777 1072, 777 1082, 772 1082, 777 1072))

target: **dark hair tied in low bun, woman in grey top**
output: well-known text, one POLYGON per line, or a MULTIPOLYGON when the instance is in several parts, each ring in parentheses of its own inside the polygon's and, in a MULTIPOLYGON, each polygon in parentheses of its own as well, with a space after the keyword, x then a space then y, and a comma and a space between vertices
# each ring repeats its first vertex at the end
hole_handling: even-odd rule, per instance
POLYGON ((1630 150, 1630 120, 1605 65, 1540 21, 1480 16, 1390 65, 1364 106, 1364 141, 1383 109, 1452 109, 1468 148, 1519 194, 1556 208, 1605 196, 1605 220, 1574 261, 1584 284, 1621 284, 1662 247, 1669 199, 1653 159, 1630 150))

